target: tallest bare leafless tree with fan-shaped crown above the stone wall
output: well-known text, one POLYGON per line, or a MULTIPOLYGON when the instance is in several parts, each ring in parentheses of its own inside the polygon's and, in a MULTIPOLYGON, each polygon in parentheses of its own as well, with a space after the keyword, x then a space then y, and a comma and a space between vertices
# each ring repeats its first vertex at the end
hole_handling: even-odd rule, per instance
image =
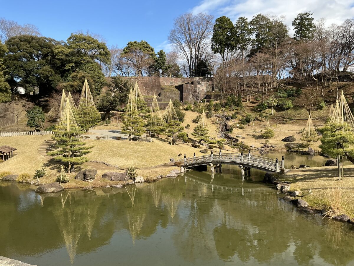
POLYGON ((195 66, 210 49, 213 16, 205 13, 184 13, 174 19, 169 41, 187 65, 183 65, 187 77, 194 77, 195 66))

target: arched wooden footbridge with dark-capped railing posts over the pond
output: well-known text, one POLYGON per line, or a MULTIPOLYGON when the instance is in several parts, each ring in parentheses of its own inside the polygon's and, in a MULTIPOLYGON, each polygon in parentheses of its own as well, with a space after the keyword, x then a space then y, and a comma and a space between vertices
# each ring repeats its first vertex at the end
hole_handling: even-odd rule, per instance
POLYGON ((238 165, 242 167, 256 168, 266 172, 280 172, 281 168, 284 168, 284 156, 279 162, 264 156, 253 155, 250 152, 248 154, 243 153, 219 153, 202 155, 193 158, 187 158, 184 155, 184 167, 190 168, 201 165, 238 165))

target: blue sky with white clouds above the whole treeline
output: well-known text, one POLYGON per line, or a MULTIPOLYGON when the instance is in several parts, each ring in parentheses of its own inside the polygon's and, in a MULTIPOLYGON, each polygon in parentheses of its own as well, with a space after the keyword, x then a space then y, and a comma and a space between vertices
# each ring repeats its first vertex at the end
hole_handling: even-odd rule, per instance
POLYGON ((46 37, 66 40, 72 32, 89 30, 101 34, 108 46, 123 48, 128 41, 146 40, 155 51, 170 49, 167 36, 173 18, 184 12, 226 15, 233 21, 257 13, 283 15, 288 26, 299 12, 312 11, 315 19, 326 17, 328 24, 354 16, 354 0, 18 0, 16 4, 0 0, 0 4, 0 17, 34 24, 46 37))

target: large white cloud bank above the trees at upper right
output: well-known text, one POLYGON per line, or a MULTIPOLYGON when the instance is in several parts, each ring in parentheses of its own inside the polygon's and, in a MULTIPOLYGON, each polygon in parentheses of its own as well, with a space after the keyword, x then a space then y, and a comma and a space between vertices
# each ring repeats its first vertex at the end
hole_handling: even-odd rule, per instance
POLYGON ((192 9, 194 13, 227 16, 233 22, 241 16, 252 19, 258 13, 285 16, 285 24, 289 27, 298 13, 307 11, 314 13, 315 20, 323 17, 328 25, 340 24, 354 17, 354 0, 203 0, 192 9))

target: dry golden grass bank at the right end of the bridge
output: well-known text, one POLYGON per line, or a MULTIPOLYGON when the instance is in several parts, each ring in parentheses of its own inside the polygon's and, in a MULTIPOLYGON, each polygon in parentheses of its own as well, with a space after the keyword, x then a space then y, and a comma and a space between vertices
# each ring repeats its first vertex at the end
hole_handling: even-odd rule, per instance
POLYGON ((337 167, 301 168, 287 172, 281 176, 291 182, 291 190, 300 190, 309 206, 316 209, 326 207, 325 198, 327 187, 342 188, 341 206, 345 214, 354 217, 354 165, 344 166, 344 180, 338 180, 337 167), (308 193, 309 190, 312 193, 308 193))

